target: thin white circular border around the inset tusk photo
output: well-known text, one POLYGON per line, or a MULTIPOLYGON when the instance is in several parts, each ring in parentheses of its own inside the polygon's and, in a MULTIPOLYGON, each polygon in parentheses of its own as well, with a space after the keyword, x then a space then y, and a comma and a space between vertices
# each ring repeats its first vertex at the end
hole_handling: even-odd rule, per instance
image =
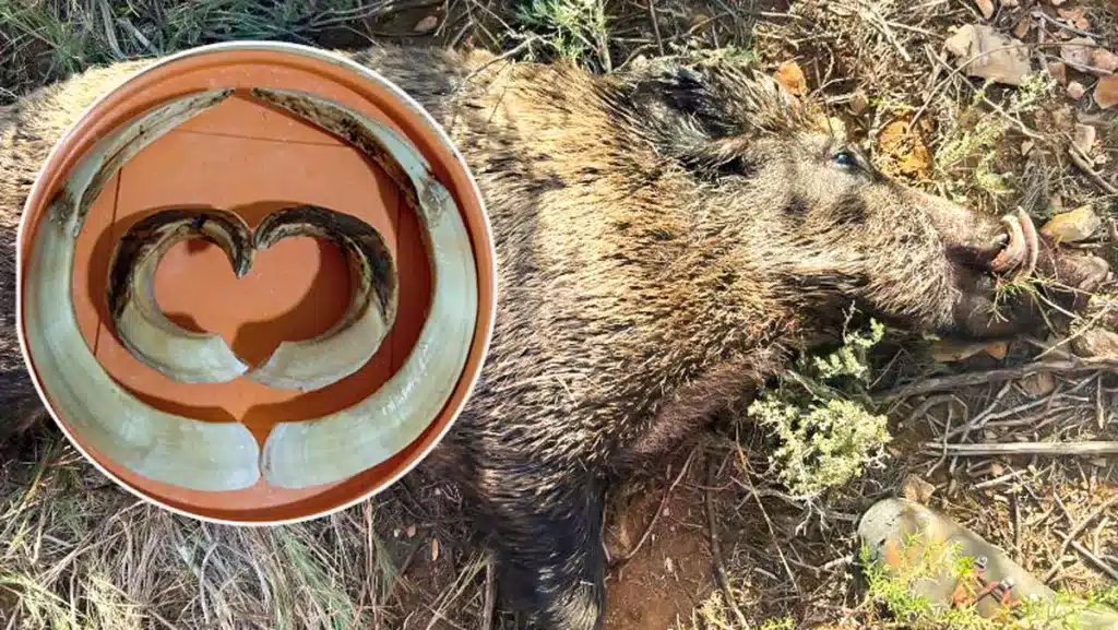
MULTIPOLYGON (((402 139, 407 140, 406 137, 404 137, 402 139)), ((468 223, 467 223, 467 227, 468 227, 468 223)), ((471 243, 471 247, 476 248, 476 246, 474 245, 474 243, 471 243)), ((475 257, 475 263, 476 263, 476 257, 475 257)), ((481 270, 479 270, 479 271, 481 271, 481 270)), ((395 83, 392 83, 392 82, 388 81, 386 77, 381 76, 379 73, 372 70, 371 68, 362 66, 362 65, 358 64, 357 62, 353 62, 352 59, 347 59, 345 57, 342 57, 340 55, 335 55, 335 54, 333 54, 333 53, 331 53, 329 50, 322 50, 320 48, 314 48, 314 47, 305 46, 305 45, 302 45, 302 44, 288 44, 288 43, 285 43, 285 41, 269 41, 269 40, 260 40, 260 39, 247 39, 247 40, 238 40, 238 41, 222 41, 222 43, 219 43, 219 44, 209 44, 209 45, 206 45, 206 46, 198 46, 198 47, 195 47, 195 48, 189 48, 187 50, 181 50, 179 53, 173 53, 171 55, 168 55, 165 57, 157 59, 154 63, 152 63, 149 66, 145 66, 145 67, 141 68, 140 70, 136 70, 135 73, 133 73, 132 75, 130 75, 127 78, 125 78, 123 82, 121 82, 113 90, 110 90, 108 92, 102 94, 101 96, 97 96, 93 101, 93 103, 91 103, 89 106, 87 106, 82 112, 82 115, 77 117, 77 120, 75 121, 75 123, 73 125, 70 125, 69 129, 66 130, 66 132, 61 135, 61 138, 59 138, 59 140, 50 149, 50 152, 47 153, 47 157, 44 159, 42 164, 39 167, 38 173, 36 173, 35 182, 31 185, 31 190, 28 194, 27 200, 23 204, 22 216, 19 219, 19 227, 16 231, 16 331, 17 331, 17 335, 19 337, 19 350, 20 350, 20 354, 23 357, 23 365, 26 366, 26 368, 28 370, 28 376, 31 376, 31 383, 32 383, 32 385, 35 385, 35 391, 36 391, 36 393, 38 393, 39 399, 42 403, 42 406, 46 408, 47 413, 50 414, 51 420, 54 420, 55 424, 59 429, 61 429, 63 433, 66 435, 66 439, 69 440, 70 444, 75 449, 77 449, 77 451, 80 452, 83 457, 85 457, 86 461, 93 463, 93 466, 96 467, 96 469, 100 470, 102 474, 104 474, 105 477, 110 478, 119 487, 123 488, 124 490, 126 490, 131 495, 135 496, 136 498, 139 498, 139 499, 141 499, 143 501, 146 501, 146 502, 152 504, 154 506, 158 506, 158 507, 160 507, 162 509, 165 509, 165 510, 168 510, 168 511, 170 511, 172 514, 177 514, 177 515, 180 515, 180 516, 186 516, 188 518, 192 518, 195 520, 201 520, 201 521, 205 521, 205 523, 214 523, 214 524, 217 524, 217 525, 231 525, 231 526, 236 526, 236 527, 274 527, 274 526, 278 526, 278 525, 295 525, 295 524, 299 524, 299 523, 306 523, 306 521, 314 520, 314 519, 318 519, 318 518, 323 518, 323 517, 331 516, 333 514, 338 514, 340 511, 347 510, 347 509, 349 509, 349 508, 351 508, 351 507, 353 507, 353 506, 356 506, 356 505, 358 505, 360 502, 363 502, 363 501, 366 501, 368 499, 371 499, 371 498, 376 497, 380 492, 383 492, 385 490, 387 490, 388 488, 390 488, 391 486, 394 486, 405 474, 411 472, 411 470, 416 466, 418 466, 420 462, 423 462, 425 459, 427 459, 427 457, 430 454, 430 452, 433 450, 435 450, 435 448, 438 446, 442 443, 443 438, 446 436, 446 433, 451 430, 452 426, 454 426, 454 423, 457 422, 458 415, 462 413, 462 410, 464 410, 465 406, 466 406, 466 404, 470 402, 471 395, 473 395, 474 388, 477 385, 477 379, 481 377, 481 373, 482 373, 482 370, 485 367, 485 359, 489 357, 490 342, 493 339, 493 326, 494 326, 494 323, 496 321, 496 301, 498 301, 496 299, 498 299, 496 250, 494 248, 493 228, 492 228, 492 225, 490 224, 489 211, 487 211, 487 209, 485 207, 485 198, 482 196, 481 189, 477 187, 477 181, 474 179, 473 171, 470 169, 470 166, 466 164, 466 161, 462 157, 462 153, 458 151, 457 147, 454 144, 454 142, 451 141, 451 138, 449 138, 449 135, 447 135, 446 131, 443 129, 443 125, 440 125, 430 115, 430 113, 427 112, 427 110, 425 110, 418 102, 416 102, 415 98, 413 98, 410 95, 408 95, 406 92, 404 92, 404 90, 401 90, 395 83), (485 339, 482 342, 481 359, 480 359, 480 364, 479 364, 479 369, 470 378, 470 383, 468 383, 470 387, 466 389, 466 394, 463 397, 462 403, 451 414, 451 417, 446 422, 446 426, 444 426, 443 430, 439 431, 437 435, 435 435, 435 439, 432 441, 430 444, 428 444, 425 449, 423 449, 421 451, 419 451, 419 453, 417 454, 417 457, 413 459, 411 463, 409 463, 408 466, 404 467, 396 474, 389 477, 388 480, 387 480, 387 482, 381 483, 378 488, 373 488, 372 490, 369 490, 368 492, 366 492, 363 495, 359 495, 358 497, 356 497, 354 499, 352 499, 352 500, 350 500, 348 502, 344 502, 344 504, 341 504, 341 505, 335 506, 333 508, 320 511, 318 514, 307 515, 307 516, 301 516, 301 517, 296 517, 296 518, 281 519, 281 520, 240 521, 240 520, 226 520, 226 519, 222 519, 222 518, 214 518, 214 517, 210 517, 210 516, 201 516, 201 515, 193 514, 193 513, 190 513, 190 511, 187 511, 187 510, 183 510, 183 509, 176 508, 173 506, 169 506, 169 505, 167 505, 167 504, 164 504, 162 501, 159 501, 159 500, 157 500, 157 499, 154 499, 152 497, 149 497, 149 496, 144 495, 143 492, 140 492, 139 490, 132 488, 131 486, 129 486, 127 483, 125 483, 124 481, 122 481, 121 479, 119 479, 115 474, 113 474, 112 472, 110 472, 100 462, 97 462, 97 460, 95 460, 93 457, 91 457, 89 453, 87 453, 85 451, 85 449, 82 448, 82 445, 74 438, 74 435, 70 434, 69 430, 66 427, 66 424, 58 419, 58 415, 55 413, 55 410, 50 406, 50 403, 49 403, 49 401, 47 398, 46 393, 42 391, 41 385, 39 385, 38 378, 35 378, 32 376, 32 374, 31 374, 31 365, 32 365, 31 364, 31 356, 30 356, 30 352, 27 349, 27 339, 25 338, 25 335, 23 335, 23 326, 25 326, 25 322, 23 322, 23 258, 26 256, 26 253, 23 252, 23 247, 21 247, 20 244, 22 244, 22 242, 23 242, 23 234, 25 234, 25 232, 28 231, 28 229, 30 229, 30 227, 28 225, 29 217, 30 217, 30 215, 28 214, 28 209, 29 209, 31 199, 35 197, 35 195, 32 195, 32 192, 37 188, 39 188, 39 187, 42 186, 42 175, 44 175, 44 171, 46 169, 46 166, 48 163, 50 163, 51 160, 54 160, 55 154, 58 153, 58 151, 60 151, 61 148, 66 144, 66 142, 72 138, 72 135, 74 134, 74 130, 78 126, 78 124, 80 124, 80 122, 84 121, 89 115, 89 113, 95 107, 97 107, 104 100, 106 100, 108 96, 115 94, 123 86, 127 85, 129 82, 135 81, 136 78, 145 75, 146 73, 150 73, 150 72, 154 70, 155 68, 159 68, 159 67, 164 66, 167 64, 170 64, 172 62, 177 62, 179 59, 184 59, 187 57, 193 57, 193 56, 198 56, 198 55, 206 55, 206 54, 209 54, 209 53, 216 53, 216 51, 222 51, 222 50, 277 50, 277 51, 281 51, 281 53, 292 53, 292 54, 295 54, 295 55, 303 55, 303 56, 306 56, 306 57, 314 57, 314 58, 318 58, 320 60, 329 62, 329 63, 334 64, 337 66, 341 66, 341 67, 343 67, 343 68, 345 68, 345 69, 348 69, 348 70, 357 74, 361 78, 364 78, 367 81, 370 81, 372 83, 376 83, 376 84, 380 85, 381 87, 386 88, 389 93, 391 93, 401 104, 404 104, 410 111, 410 113, 413 115, 415 115, 416 117, 418 117, 419 120, 421 120, 428 126, 428 129, 430 129, 433 132, 435 132, 435 137, 438 140, 438 142, 445 149, 448 149, 451 151, 451 153, 454 156, 454 159, 458 162, 458 166, 461 166, 462 169, 465 171, 466 179, 470 181, 470 187, 472 189, 472 192, 473 192, 474 197, 477 199, 479 207, 482 210, 482 225, 483 225, 484 231, 485 231, 485 234, 484 234, 485 239, 489 242, 490 260, 492 261, 492 267, 493 267, 493 274, 491 276, 491 281, 492 281, 492 284, 493 284, 493 291, 492 291, 492 295, 491 295, 491 299, 490 299, 490 312, 493 313, 493 316, 490 318, 489 327, 487 327, 487 330, 485 331, 485 339)), ((476 331, 476 328, 475 328, 474 333, 476 335, 476 332, 477 331, 476 331)))

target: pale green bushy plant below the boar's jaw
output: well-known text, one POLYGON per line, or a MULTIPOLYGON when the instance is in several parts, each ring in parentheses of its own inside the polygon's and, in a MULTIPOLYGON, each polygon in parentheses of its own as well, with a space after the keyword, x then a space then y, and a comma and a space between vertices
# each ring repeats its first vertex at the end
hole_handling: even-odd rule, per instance
POLYGON ((841 348, 802 357, 777 392, 749 406, 748 414, 779 440, 770 463, 795 495, 813 499, 884 457, 883 446, 892 440, 887 416, 851 399, 868 399, 865 357, 883 335, 878 321, 869 331, 845 332, 841 348))

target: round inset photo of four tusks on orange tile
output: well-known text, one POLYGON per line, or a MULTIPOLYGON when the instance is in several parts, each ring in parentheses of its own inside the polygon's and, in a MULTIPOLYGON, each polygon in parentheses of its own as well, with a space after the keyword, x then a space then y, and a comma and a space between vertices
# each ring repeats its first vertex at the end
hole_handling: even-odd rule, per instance
POLYGON ((438 124, 343 57, 219 44, 64 134, 18 243, 23 358, 70 442, 206 520, 323 516, 423 460, 476 383, 496 273, 438 124))

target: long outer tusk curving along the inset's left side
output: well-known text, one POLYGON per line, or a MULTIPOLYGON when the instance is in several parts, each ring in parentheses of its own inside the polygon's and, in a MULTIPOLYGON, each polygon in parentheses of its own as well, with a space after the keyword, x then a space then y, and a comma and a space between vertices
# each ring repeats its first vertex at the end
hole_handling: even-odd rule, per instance
POLYGON ((72 278, 77 236, 105 182, 129 158, 230 92, 179 98, 101 140, 48 208, 31 243, 25 281, 26 342, 57 413, 84 441, 127 470, 205 491, 256 483, 256 440, 239 423, 201 422, 152 408, 113 380, 82 337, 72 278))

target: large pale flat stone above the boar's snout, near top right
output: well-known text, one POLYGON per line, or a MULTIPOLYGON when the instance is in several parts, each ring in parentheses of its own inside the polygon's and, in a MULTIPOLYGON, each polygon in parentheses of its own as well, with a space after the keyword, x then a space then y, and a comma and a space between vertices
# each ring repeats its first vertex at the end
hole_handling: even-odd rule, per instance
POLYGON ((957 57, 956 67, 963 67, 968 76, 1021 85, 1032 72, 1029 50, 1024 44, 986 25, 966 25, 959 28, 944 43, 944 47, 957 57))

